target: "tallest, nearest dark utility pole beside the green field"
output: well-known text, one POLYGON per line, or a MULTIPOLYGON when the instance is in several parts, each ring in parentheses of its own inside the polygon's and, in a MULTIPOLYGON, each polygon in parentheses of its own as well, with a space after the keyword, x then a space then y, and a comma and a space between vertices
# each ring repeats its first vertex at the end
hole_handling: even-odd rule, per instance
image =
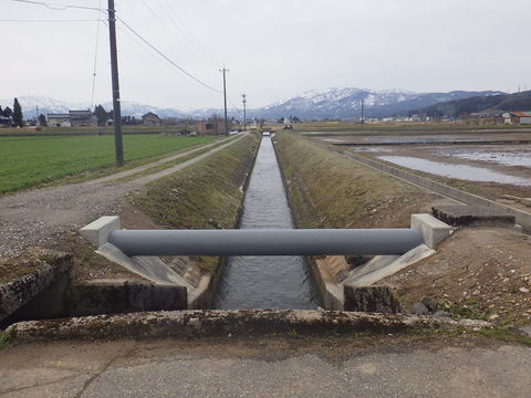
POLYGON ((116 50, 116 10, 114 0, 108 0, 108 35, 111 43, 111 78, 113 81, 113 124, 116 166, 124 166, 124 144, 122 140, 122 108, 119 105, 118 54, 116 50))

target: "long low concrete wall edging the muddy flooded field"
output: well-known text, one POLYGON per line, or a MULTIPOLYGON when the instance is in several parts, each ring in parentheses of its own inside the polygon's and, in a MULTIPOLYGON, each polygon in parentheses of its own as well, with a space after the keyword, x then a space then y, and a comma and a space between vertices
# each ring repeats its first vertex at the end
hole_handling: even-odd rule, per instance
POLYGON ((337 153, 346 156, 347 158, 353 159, 353 160, 355 160, 355 161, 357 161, 362 165, 365 165, 365 166, 372 167, 376 170, 389 174, 394 177, 402 178, 402 179, 404 179, 408 182, 412 182, 412 184, 415 184, 419 187, 429 189, 434 192, 444 195, 448 198, 455 199, 455 200, 460 201, 462 203, 475 205, 475 206, 486 206, 486 207, 496 208, 498 210, 507 211, 511 214, 514 214, 514 217, 517 218, 517 223, 522 226, 522 232, 531 234, 531 213, 509 208, 507 206, 497 203, 497 202, 494 202, 492 200, 489 200, 489 199, 481 198, 481 197, 479 197, 477 195, 473 195, 473 193, 464 192, 464 191, 461 191, 457 188, 448 187, 444 184, 433 181, 430 179, 417 176, 413 172, 408 172, 408 171, 405 171, 405 170, 402 170, 399 168, 385 165, 385 164, 376 161, 376 160, 372 160, 372 159, 364 158, 362 156, 354 155, 354 154, 348 153, 344 149, 332 148, 332 150, 337 151, 337 153))

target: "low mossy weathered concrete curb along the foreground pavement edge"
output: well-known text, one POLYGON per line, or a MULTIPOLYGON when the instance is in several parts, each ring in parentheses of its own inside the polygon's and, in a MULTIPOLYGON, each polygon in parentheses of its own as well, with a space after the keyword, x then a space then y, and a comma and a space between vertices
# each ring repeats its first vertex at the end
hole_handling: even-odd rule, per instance
POLYGON ((21 322, 7 331, 14 342, 50 338, 239 337, 270 334, 314 335, 399 333, 420 328, 479 331, 485 321, 329 311, 173 311, 21 322))

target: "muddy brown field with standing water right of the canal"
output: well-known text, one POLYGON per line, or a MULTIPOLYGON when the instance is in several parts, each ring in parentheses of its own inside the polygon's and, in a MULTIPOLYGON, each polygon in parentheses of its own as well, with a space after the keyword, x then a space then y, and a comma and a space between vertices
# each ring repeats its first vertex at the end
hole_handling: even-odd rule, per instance
POLYGON ((522 210, 529 209, 502 197, 531 197, 531 134, 319 138, 354 154, 414 170, 522 210))

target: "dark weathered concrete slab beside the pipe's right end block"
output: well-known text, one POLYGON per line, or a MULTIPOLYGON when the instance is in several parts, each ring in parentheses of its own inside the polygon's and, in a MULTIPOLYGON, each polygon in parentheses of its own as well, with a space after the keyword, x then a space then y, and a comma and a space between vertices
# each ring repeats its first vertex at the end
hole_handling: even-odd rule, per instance
POLYGON ((508 227, 514 226, 516 216, 486 206, 436 206, 433 213, 439 220, 455 227, 508 227))

